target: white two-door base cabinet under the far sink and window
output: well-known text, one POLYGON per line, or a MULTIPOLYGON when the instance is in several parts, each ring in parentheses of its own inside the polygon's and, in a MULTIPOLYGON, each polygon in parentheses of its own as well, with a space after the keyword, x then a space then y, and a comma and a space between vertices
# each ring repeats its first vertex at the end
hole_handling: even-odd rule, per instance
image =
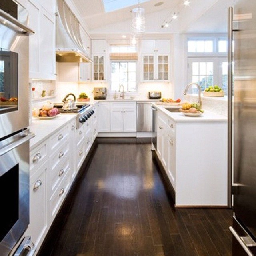
POLYGON ((136 102, 110 103, 110 132, 136 132, 136 102))

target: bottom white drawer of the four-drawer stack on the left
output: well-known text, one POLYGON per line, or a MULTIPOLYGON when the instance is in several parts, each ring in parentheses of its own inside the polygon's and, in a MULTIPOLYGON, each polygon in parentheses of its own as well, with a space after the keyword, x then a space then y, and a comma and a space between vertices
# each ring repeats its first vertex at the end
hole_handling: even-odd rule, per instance
POLYGON ((50 199, 50 221, 56 216, 62 201, 66 197, 66 194, 70 187, 70 175, 65 175, 64 179, 55 190, 54 194, 50 199))

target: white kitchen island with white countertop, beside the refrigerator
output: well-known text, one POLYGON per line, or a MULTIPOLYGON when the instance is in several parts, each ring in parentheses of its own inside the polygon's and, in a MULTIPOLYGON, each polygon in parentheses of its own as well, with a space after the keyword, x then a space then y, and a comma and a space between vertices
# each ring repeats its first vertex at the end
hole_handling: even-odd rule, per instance
POLYGON ((228 203, 227 118, 206 111, 185 116, 160 106, 157 150, 176 207, 226 207, 228 203))

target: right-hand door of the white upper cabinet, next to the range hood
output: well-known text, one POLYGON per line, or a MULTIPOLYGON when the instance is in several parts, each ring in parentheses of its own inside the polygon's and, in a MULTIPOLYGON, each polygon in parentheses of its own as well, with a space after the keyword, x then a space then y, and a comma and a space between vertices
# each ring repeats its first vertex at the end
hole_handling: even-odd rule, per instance
POLYGON ((40 78, 55 79, 55 24, 45 13, 40 14, 40 78))

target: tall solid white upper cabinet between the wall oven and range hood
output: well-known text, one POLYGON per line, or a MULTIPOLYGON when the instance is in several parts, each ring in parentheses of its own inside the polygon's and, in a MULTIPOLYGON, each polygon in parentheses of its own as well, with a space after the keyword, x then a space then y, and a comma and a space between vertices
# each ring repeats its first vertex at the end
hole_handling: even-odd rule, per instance
POLYGON ((27 1, 29 27, 35 34, 29 38, 29 77, 34 79, 55 79, 55 16, 51 0, 27 1), (51 2, 52 6, 46 6, 51 2), (45 8, 45 7, 47 8, 45 8), (50 13, 51 11, 51 13, 50 13))

